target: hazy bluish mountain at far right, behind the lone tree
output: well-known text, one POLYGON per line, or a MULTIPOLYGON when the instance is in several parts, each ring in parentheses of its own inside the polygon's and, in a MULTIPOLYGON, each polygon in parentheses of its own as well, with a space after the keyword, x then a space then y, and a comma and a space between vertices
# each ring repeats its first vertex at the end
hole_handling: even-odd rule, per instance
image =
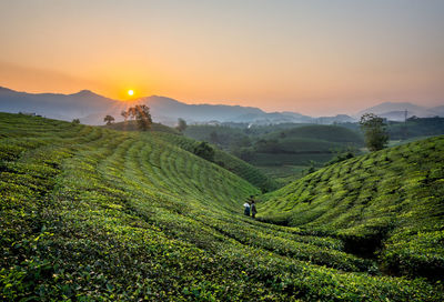
POLYGON ((444 117, 444 105, 425 108, 408 102, 384 102, 360 111, 356 114, 356 118, 364 113, 375 113, 387 120, 403 121, 405 117, 405 110, 407 111, 407 118, 413 115, 417 118, 431 118, 436 115, 444 117))

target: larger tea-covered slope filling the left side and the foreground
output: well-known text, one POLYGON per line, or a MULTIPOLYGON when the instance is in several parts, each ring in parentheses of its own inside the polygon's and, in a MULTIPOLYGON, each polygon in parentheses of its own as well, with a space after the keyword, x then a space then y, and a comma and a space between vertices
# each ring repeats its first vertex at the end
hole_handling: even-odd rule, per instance
POLYGON ((0 159, 1 300, 443 299, 243 217, 258 189, 155 133, 0 113, 0 159))

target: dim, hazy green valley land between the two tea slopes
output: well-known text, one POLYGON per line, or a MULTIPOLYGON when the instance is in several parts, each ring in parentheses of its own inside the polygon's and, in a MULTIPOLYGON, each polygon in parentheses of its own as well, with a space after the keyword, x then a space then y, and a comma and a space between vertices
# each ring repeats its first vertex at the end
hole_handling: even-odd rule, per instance
POLYGON ((341 125, 190 125, 184 134, 222 148, 259 168, 281 187, 300 178, 302 170, 323 167, 346 151, 359 153, 363 147, 359 129, 341 125))

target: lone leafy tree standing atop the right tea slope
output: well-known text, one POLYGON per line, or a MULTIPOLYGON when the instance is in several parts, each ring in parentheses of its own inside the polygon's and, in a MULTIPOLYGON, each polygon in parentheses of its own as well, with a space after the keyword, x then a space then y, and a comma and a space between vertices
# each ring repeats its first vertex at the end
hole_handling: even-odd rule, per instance
POLYGON ((389 134, 383 118, 373 113, 365 113, 361 117, 360 124, 370 151, 381 150, 387 144, 389 134))

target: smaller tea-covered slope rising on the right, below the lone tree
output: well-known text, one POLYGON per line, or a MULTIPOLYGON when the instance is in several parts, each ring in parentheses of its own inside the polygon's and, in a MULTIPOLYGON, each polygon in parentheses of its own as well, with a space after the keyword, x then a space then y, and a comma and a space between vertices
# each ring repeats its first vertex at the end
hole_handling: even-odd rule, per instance
POLYGON ((444 274, 444 137, 333 164, 264 197, 263 220, 337 235, 397 274, 444 274))

